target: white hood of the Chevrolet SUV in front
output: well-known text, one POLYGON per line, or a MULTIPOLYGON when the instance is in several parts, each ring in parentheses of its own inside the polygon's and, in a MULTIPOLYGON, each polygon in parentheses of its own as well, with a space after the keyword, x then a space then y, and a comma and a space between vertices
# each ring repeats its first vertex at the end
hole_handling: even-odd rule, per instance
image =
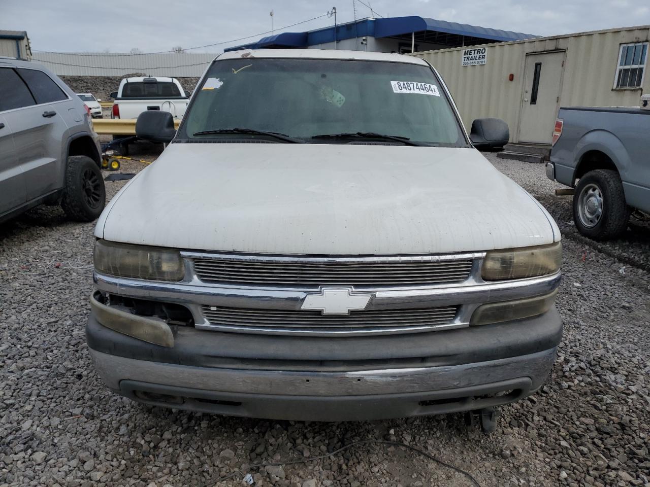
POLYGON ((543 207, 476 149, 170 144, 99 217, 114 242, 250 253, 450 253, 552 243, 543 207))

